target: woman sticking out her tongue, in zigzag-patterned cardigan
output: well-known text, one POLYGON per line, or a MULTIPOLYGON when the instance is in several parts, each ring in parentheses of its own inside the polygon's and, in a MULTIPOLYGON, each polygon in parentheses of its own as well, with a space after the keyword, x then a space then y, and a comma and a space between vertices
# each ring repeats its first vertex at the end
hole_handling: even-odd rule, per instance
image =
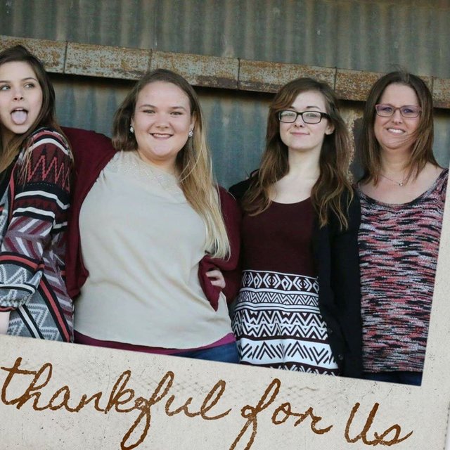
POLYGON ((55 93, 23 46, 0 52, 0 333, 72 340, 63 281, 72 155, 55 93))

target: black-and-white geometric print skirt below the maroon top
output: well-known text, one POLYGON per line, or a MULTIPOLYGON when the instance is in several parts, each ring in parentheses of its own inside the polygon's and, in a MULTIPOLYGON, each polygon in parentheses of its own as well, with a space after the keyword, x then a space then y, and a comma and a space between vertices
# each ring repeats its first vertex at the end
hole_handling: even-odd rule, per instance
POLYGON ((242 364, 338 375, 317 278, 246 270, 233 332, 242 364))

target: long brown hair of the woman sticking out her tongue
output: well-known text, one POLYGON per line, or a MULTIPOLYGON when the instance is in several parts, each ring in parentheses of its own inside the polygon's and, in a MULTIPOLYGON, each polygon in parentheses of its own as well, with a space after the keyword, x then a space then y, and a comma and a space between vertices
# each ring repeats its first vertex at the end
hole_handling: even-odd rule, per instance
MULTIPOLYGON (((20 150, 27 148, 30 145, 30 137, 39 128, 51 127, 56 129, 61 136, 65 139, 63 131, 60 129, 58 122, 56 122, 55 113, 55 90, 51 84, 49 75, 44 69, 44 65, 41 61, 34 56, 30 51, 25 49, 24 46, 16 45, 5 49, 0 52, 0 66, 5 63, 27 63, 32 68, 36 75, 39 86, 42 89, 42 105, 36 120, 32 123, 31 127, 23 134, 15 134, 13 138, 3 147, 2 140, 0 139, 0 173, 11 165, 11 162, 20 153, 20 150)), ((65 143, 69 146, 68 140, 65 139, 65 143)), ((27 164, 24 165, 27 167, 27 164)))

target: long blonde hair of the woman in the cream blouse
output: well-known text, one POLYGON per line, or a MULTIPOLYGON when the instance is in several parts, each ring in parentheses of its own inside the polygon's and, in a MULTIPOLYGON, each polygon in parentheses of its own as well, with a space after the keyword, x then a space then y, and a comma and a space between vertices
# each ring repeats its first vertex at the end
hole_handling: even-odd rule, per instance
POLYGON ((179 186, 186 200, 200 214, 207 229, 207 252, 212 257, 226 258, 230 254, 229 238, 221 214, 219 192, 212 175, 212 160, 207 146, 203 115, 198 96, 191 84, 171 70, 148 72, 124 99, 113 122, 113 146, 116 150, 136 150, 137 142, 129 131, 139 92, 150 83, 166 82, 178 86, 189 98, 191 116, 195 119, 192 138, 176 155, 179 186))

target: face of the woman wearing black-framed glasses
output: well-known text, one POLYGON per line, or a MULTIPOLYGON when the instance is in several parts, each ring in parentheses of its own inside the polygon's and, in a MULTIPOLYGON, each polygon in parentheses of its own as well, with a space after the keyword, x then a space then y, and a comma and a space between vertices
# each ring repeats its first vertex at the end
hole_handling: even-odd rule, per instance
MULTIPOLYGON (((297 113, 308 110, 326 113, 325 98, 318 91, 302 92, 286 109, 297 111, 297 113)), ((333 125, 326 117, 322 117, 318 124, 307 124, 300 115, 293 123, 280 122, 281 141, 290 152, 311 151, 320 154, 325 135, 331 133, 333 133, 333 125)))

